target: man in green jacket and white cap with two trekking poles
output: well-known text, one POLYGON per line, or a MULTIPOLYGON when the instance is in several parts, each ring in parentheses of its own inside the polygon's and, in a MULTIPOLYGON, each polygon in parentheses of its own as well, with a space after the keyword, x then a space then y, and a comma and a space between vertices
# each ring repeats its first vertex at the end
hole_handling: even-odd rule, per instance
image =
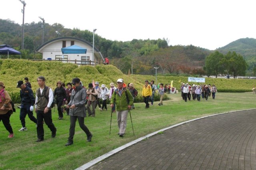
POLYGON ((118 88, 116 88, 110 100, 110 107, 113 108, 114 103, 116 103, 116 116, 119 127, 118 134, 120 137, 124 137, 128 110, 132 108, 133 98, 130 91, 124 87, 123 79, 118 79, 117 85, 118 88))

